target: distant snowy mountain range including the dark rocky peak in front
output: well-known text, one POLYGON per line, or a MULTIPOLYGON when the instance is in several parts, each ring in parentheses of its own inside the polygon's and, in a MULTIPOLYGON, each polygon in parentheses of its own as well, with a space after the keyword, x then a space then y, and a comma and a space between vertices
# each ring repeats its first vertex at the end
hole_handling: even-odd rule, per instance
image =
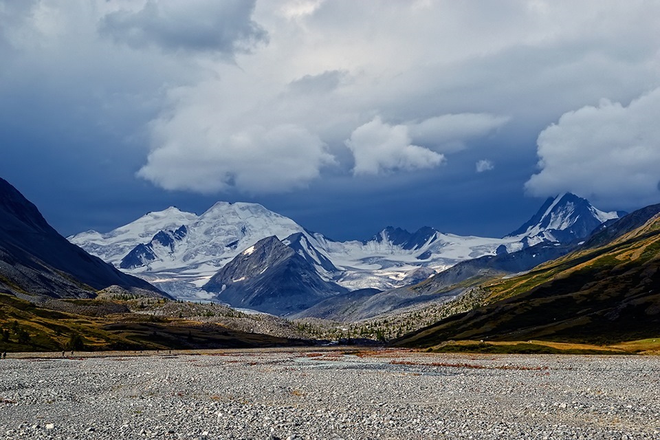
MULTIPOLYGON (((111 232, 83 232, 69 241, 180 299, 304 314, 317 303, 332 303, 334 296, 353 290, 406 292, 401 289, 464 261, 486 259, 480 261, 528 270, 568 252, 562 246, 576 245, 591 230, 618 217, 618 212, 602 212, 567 193, 548 199, 529 221, 503 238, 458 236, 430 227, 412 233, 388 227, 371 239, 339 242, 256 203, 218 202, 201 215, 170 207, 111 232), (289 250, 283 252, 283 247, 289 250), (261 261, 252 252, 245 254, 254 249, 261 261), (273 265, 280 257, 287 264, 273 265), (258 265, 265 272, 256 273, 253 269, 258 265), (305 293, 294 289, 292 267, 297 271, 296 285, 305 286, 305 293), (300 282, 303 277, 305 282, 300 282), (282 296, 284 290, 290 298, 282 296), (280 305, 265 300, 265 292, 277 296, 280 305)), ((371 307, 368 314, 400 306, 394 301, 387 307, 371 307)))

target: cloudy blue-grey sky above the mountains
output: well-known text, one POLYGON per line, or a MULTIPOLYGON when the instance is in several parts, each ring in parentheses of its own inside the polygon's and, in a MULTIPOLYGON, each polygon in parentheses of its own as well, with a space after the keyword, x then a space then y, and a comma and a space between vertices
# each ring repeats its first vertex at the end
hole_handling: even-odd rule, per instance
POLYGON ((0 177, 64 235, 250 201, 334 239, 660 203, 660 1, 0 0, 0 177))

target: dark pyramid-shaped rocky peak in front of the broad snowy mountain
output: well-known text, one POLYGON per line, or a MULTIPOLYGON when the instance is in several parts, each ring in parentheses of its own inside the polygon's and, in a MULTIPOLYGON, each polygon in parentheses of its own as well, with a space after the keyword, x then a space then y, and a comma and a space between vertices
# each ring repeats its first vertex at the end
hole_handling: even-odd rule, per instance
MULTIPOLYGON (((300 243, 300 240, 293 243, 300 243)), ((288 315, 308 309, 347 289, 322 279, 316 261, 298 254, 276 236, 259 240, 224 265, 203 286, 232 305, 288 315)))

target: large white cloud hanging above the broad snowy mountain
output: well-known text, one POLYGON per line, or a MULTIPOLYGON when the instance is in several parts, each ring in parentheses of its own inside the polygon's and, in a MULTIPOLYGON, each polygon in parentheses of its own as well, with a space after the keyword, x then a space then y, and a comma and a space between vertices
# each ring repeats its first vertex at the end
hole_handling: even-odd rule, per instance
POLYGON ((285 192, 334 164, 318 135, 303 126, 232 126, 217 119, 219 109, 181 93, 173 115, 151 127, 152 150, 138 175, 154 184, 204 193, 285 192))

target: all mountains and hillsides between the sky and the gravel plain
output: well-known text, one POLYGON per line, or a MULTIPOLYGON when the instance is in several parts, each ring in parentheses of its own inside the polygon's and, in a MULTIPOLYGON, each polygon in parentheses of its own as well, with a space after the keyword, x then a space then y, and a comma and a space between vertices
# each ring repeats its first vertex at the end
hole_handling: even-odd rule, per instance
MULTIPOLYGON (((503 239, 451 236, 432 228, 415 233, 386 228, 371 239, 343 243, 259 205, 217 203, 209 211, 201 216, 175 208, 150 213, 106 239, 96 233, 113 243, 93 245, 125 270, 161 277, 159 285, 187 283, 188 276, 199 285, 190 289, 213 302, 293 319, 344 321, 331 324, 336 331, 328 334, 351 327, 349 334, 380 338, 373 336, 374 329, 386 331, 382 326, 388 322, 397 322, 398 328, 388 333, 390 338, 417 329, 395 340, 395 345, 406 347, 443 349, 451 340, 598 345, 637 341, 635 347, 643 350, 648 346, 644 341, 656 337, 660 325, 660 205, 620 217, 620 212, 602 212, 585 199, 565 194, 549 199, 503 239), (230 215, 225 217, 225 212, 230 215), (263 230, 276 233, 259 238, 263 230), (210 234, 206 242, 201 231, 210 234), (225 244, 230 238, 234 240, 225 244), (189 241, 197 241, 197 248, 189 241), (474 243, 488 245, 478 248, 474 243), (223 252, 218 253, 221 244, 223 252), (461 250, 483 254, 459 259, 439 272, 426 264, 451 261, 461 250), (222 259, 219 268, 213 258, 222 259), (390 280, 402 285, 343 285, 351 271, 358 273, 358 264, 374 266, 361 268, 368 283, 380 280, 374 272, 393 271, 401 261, 410 268, 390 280), (167 272, 173 262, 183 263, 179 272, 167 272), (383 269, 386 264, 390 266, 383 269), (200 277, 204 265, 213 273, 200 277), (434 324, 423 329, 411 324, 421 316, 426 322, 421 325, 434 324)), ((2 179, 0 219, 0 322, 14 320, 15 327, 10 338, 0 342, 5 348, 25 349, 29 344, 33 349, 57 349, 75 335, 84 344, 106 349, 305 343, 188 322, 183 311, 194 304, 168 302, 157 287, 67 241, 2 179), (174 317, 156 315, 165 309, 174 317)), ((203 316, 215 319, 222 310, 227 317, 250 316, 217 304, 206 305, 203 316)), ((258 316, 253 323, 264 318, 258 316)), ((314 332, 329 325, 311 321, 324 322, 311 329, 309 320, 270 318, 282 322, 278 331, 298 326, 298 331, 312 331, 317 337, 314 332)), ((491 345, 485 347, 492 350, 491 345)))

